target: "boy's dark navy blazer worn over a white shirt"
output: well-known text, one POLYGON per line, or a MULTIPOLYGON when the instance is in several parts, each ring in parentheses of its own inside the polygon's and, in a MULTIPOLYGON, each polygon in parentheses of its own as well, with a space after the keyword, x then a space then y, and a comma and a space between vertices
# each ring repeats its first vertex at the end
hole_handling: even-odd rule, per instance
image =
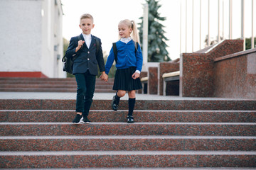
MULTIPOLYGON (((80 34, 80 38, 84 41, 82 34, 80 34)), ((78 52, 75 52, 75 48, 78 47, 78 37, 73 37, 70 39, 70 44, 68 45, 68 50, 65 55, 69 57, 75 57, 75 61, 73 62, 73 74, 76 73, 85 73, 87 69, 89 69, 90 74, 97 75, 98 69, 97 65, 99 65, 100 72, 105 71, 105 64, 103 60, 102 47, 100 38, 99 40, 99 51, 96 56, 96 38, 92 35, 92 42, 88 49, 87 45, 84 43, 78 52)))

